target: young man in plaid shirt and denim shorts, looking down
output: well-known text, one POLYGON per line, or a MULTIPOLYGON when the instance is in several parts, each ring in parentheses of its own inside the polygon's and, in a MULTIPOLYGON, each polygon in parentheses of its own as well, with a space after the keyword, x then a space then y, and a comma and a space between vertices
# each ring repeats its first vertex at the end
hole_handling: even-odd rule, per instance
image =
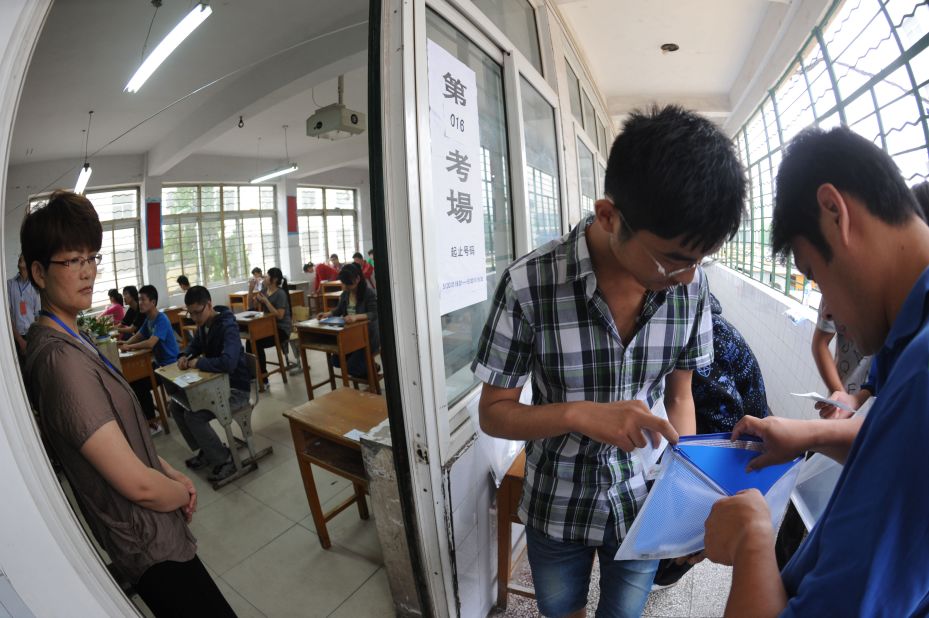
POLYGON ((604 184, 593 215, 503 273, 472 365, 481 427, 527 440, 520 518, 546 616, 584 615, 594 552, 597 616, 642 613, 658 562, 613 560, 647 493, 634 449, 696 432, 691 374, 713 359, 698 264, 745 199, 730 140, 677 107, 630 116, 604 184))

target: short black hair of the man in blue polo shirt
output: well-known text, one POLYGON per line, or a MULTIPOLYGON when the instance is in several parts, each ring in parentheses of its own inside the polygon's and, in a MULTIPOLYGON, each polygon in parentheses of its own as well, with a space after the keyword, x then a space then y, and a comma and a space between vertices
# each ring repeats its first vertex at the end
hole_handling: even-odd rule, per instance
POLYGON ((848 127, 801 131, 784 151, 777 172, 771 247, 786 255, 805 238, 828 262, 832 248, 819 226, 816 192, 824 184, 861 200, 868 212, 890 225, 901 225, 919 206, 890 155, 848 127))

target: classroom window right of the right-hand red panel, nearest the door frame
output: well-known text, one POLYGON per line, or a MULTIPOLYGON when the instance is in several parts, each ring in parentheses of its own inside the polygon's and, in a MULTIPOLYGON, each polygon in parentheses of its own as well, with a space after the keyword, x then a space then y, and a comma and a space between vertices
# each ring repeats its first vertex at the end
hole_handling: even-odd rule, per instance
MULTIPOLYGON (((297 232, 303 258, 313 264, 333 253, 350 262, 358 246, 358 192, 333 187, 297 187, 297 232)), ((361 251, 364 253, 364 251, 361 251)))

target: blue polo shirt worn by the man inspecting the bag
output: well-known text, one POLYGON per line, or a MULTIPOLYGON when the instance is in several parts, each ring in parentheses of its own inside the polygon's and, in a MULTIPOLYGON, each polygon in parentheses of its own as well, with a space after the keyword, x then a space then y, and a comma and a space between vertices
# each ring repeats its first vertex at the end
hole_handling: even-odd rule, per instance
POLYGON ((781 577, 783 616, 929 615, 929 269, 879 352, 874 402, 781 577))

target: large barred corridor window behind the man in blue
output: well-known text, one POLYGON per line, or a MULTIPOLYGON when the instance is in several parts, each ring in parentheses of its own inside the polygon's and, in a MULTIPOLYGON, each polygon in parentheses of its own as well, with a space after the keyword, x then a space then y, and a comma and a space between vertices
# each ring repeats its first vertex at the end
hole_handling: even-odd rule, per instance
POLYGON ((836 2, 735 136, 750 181, 727 266, 801 302, 815 284, 770 245, 774 182, 784 146, 803 128, 844 124, 887 152, 910 186, 929 178, 929 6, 915 0, 836 2))

